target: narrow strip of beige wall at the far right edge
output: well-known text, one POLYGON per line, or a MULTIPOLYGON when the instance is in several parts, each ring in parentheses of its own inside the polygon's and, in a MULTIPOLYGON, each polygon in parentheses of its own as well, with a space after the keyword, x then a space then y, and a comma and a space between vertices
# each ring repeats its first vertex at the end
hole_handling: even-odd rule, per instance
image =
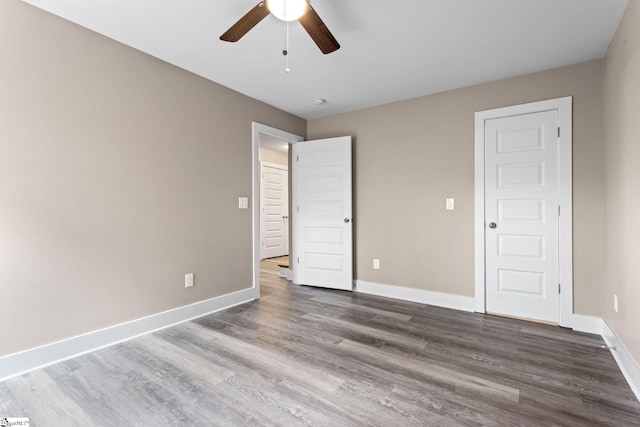
POLYGON ((604 317, 640 363, 640 2, 631 1, 604 59, 604 317), (619 312, 613 310, 613 294, 619 312))

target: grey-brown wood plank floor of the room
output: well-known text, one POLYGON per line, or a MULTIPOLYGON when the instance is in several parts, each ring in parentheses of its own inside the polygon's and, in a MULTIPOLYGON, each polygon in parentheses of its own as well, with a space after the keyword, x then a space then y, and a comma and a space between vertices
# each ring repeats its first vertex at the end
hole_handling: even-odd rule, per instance
POLYGON ((0 383, 31 426, 640 426, 598 336, 343 291, 262 298, 0 383))

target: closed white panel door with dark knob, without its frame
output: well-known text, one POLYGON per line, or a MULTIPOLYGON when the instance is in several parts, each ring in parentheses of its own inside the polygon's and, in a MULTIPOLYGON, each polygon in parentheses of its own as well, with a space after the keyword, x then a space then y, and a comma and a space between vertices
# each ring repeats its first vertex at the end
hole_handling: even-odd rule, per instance
POLYGON ((485 122, 486 311, 558 322, 558 111, 485 122))

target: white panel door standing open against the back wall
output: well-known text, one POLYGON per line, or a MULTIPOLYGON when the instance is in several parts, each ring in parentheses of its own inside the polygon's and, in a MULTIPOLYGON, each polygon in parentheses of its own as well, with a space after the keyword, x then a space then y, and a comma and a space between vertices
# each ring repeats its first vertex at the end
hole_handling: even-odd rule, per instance
POLYGON ((351 137, 292 145, 293 282, 353 288, 351 137))

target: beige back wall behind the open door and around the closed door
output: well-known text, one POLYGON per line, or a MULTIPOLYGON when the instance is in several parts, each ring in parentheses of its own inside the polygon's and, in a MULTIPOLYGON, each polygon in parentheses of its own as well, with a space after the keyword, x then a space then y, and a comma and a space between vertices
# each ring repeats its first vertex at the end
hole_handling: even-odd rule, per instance
POLYGON ((575 310, 601 316, 600 82, 596 60, 310 120, 309 139, 354 137, 357 279, 473 296, 474 112, 571 95, 575 310))

